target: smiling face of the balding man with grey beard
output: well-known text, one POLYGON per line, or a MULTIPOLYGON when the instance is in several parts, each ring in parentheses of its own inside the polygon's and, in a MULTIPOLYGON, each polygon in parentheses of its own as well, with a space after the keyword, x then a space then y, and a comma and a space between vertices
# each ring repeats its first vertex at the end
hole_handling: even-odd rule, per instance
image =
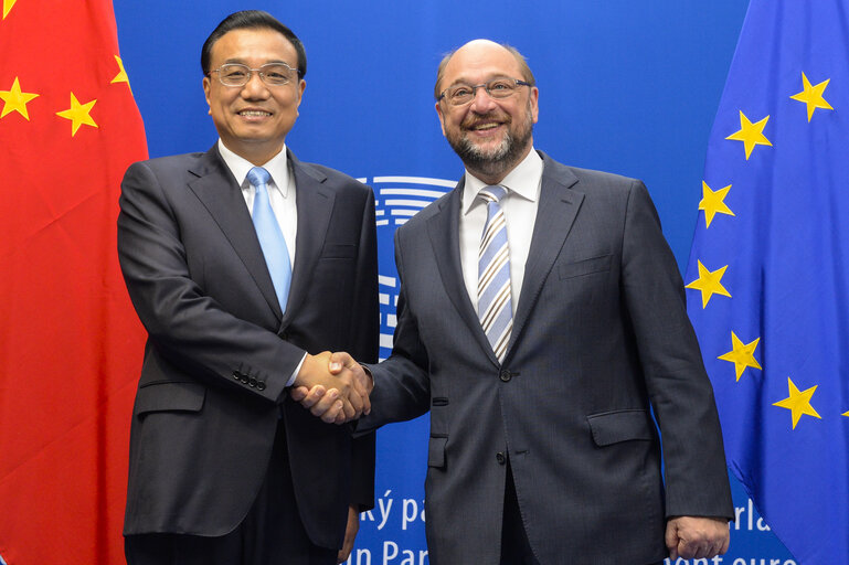
MULTIPOLYGON (((501 45, 476 40, 458 49, 445 66, 438 88, 475 86, 492 78, 519 78, 516 56, 501 45)), ((466 168, 480 180, 497 184, 528 154, 533 145, 539 90, 520 86, 509 98, 495 99, 478 88, 471 103, 452 106, 436 103, 443 135, 466 168)))

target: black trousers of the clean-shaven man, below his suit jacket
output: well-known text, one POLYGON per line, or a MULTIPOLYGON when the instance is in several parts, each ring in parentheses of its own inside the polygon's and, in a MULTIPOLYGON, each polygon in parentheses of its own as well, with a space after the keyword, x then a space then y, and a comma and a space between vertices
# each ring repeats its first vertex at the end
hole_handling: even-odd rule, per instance
POLYGON ((300 522, 282 425, 256 501, 233 532, 128 535, 124 547, 128 565, 335 565, 337 556, 314 545, 300 522))

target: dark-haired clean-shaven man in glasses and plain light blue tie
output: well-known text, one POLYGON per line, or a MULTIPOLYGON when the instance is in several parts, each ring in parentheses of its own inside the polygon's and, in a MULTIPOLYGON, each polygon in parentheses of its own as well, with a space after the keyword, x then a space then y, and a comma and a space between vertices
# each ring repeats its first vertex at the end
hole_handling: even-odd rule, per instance
POLYGON ((373 499, 370 381, 328 373, 331 349, 378 353, 374 199, 299 162, 304 46, 265 12, 227 17, 203 45, 220 139, 135 163, 118 250, 149 333, 130 434, 130 565, 330 565, 373 499), (288 397, 333 387, 325 420, 288 397))

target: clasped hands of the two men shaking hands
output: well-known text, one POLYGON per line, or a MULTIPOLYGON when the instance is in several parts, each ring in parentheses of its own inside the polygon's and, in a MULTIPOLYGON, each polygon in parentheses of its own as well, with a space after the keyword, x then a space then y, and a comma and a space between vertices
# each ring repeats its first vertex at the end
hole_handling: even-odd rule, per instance
POLYGON ((295 377, 289 396, 328 424, 344 424, 371 412, 371 375, 348 353, 310 355, 295 377))

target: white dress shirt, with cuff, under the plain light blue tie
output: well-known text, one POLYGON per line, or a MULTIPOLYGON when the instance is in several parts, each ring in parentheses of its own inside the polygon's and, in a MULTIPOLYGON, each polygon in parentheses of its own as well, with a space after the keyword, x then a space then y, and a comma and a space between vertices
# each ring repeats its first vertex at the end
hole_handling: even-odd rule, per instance
MULTIPOLYGON (((247 159, 240 157, 227 149, 221 139, 219 139, 219 151, 221 152, 221 158, 224 159, 224 163, 227 166, 227 169, 230 169, 230 172, 233 173, 236 182, 238 182, 238 185, 242 188, 242 195, 245 198, 245 205, 247 205, 247 211, 253 217, 254 195, 256 194, 256 189, 254 189, 254 186, 247 181, 247 173, 255 166, 247 159)), ((277 220, 277 225, 280 226, 280 232, 283 232, 283 237, 286 239, 286 249, 289 252, 291 273, 293 276, 295 276, 295 244, 298 235, 298 206, 295 198, 295 179, 291 174, 289 174, 289 163, 288 159, 286 158, 286 146, 284 145, 280 152, 272 157, 268 162, 262 167, 268 171, 268 174, 272 175, 267 184, 268 201, 272 204, 272 211, 274 212, 274 216, 277 220)), ((300 360, 300 363, 298 363, 298 366, 295 367, 295 372, 289 377, 289 381, 286 383, 286 386, 291 386, 291 384, 295 382, 295 377, 298 375, 298 372, 300 371, 300 367, 304 364, 304 360, 306 358, 307 354, 305 353, 304 358, 300 360)))

